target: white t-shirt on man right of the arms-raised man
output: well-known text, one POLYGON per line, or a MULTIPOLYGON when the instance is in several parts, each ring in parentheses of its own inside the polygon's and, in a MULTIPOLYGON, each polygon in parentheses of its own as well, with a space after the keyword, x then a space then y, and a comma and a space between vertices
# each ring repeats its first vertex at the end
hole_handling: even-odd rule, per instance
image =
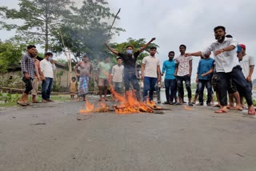
POLYGON ((152 56, 144 57, 142 64, 145 64, 144 77, 158 78, 158 66, 160 66, 158 58, 152 56))

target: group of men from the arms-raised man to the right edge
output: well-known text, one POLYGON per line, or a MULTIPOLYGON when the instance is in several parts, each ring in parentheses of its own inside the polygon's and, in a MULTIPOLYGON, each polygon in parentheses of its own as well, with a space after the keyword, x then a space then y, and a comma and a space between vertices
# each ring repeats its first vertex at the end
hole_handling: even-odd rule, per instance
MULTIPOLYGON (((252 101, 252 83, 251 76, 254 70, 254 60, 252 57, 246 55, 246 46, 238 44, 234 38, 226 38, 226 28, 224 26, 217 26, 214 28, 214 36, 217 42, 213 42, 206 50, 198 51, 195 53, 186 53, 186 46, 179 46, 180 55, 174 58, 174 51, 170 51, 168 54, 169 59, 163 63, 162 73, 160 73, 160 65, 157 58, 155 58, 156 48, 150 48, 150 56, 143 58, 142 60, 142 80, 144 82, 143 88, 143 101, 146 100, 147 92, 150 91, 150 101, 153 100, 154 85, 156 82, 161 81, 161 75, 165 75, 165 87, 166 87, 166 101, 164 104, 177 104, 181 105, 184 100, 183 82, 185 82, 186 90, 188 93, 188 105, 193 106, 191 100, 192 93, 190 87, 191 74, 192 74, 192 56, 199 56, 202 60, 198 65, 197 82, 199 103, 197 105, 203 105, 203 90, 206 86, 207 100, 206 104, 211 105, 212 97, 212 75, 215 70, 214 77, 216 84, 214 84, 214 90, 218 97, 218 106, 220 109, 215 113, 226 113, 227 109, 232 109, 232 105, 227 105, 227 92, 230 89, 234 89, 240 97, 245 97, 248 105, 248 114, 255 114, 255 109, 252 101), (210 58, 210 54, 213 52, 214 59, 210 58), (176 96, 178 89, 178 98, 176 96)), ((154 38, 150 42, 154 41, 154 38)), ((146 44, 149 46, 150 42, 146 44)), ((108 49, 117 54, 124 60, 125 72, 124 82, 126 90, 129 90, 130 83, 134 85, 134 89, 137 90, 138 100, 139 88, 138 81, 135 77, 135 63, 138 54, 145 49, 144 46, 141 50, 134 52, 133 47, 126 47, 126 54, 120 54, 116 50, 108 46, 108 49), (129 82, 128 85, 127 82, 129 82)), ((239 105, 241 101, 236 101, 237 106, 234 109, 241 109, 239 105)))

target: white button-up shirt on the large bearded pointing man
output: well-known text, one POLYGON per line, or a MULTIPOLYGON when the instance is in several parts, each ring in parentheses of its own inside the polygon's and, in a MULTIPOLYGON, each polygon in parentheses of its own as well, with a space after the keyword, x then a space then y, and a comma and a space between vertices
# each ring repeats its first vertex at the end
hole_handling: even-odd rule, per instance
POLYGON ((222 43, 219 43, 218 41, 213 42, 210 46, 206 48, 206 50, 202 50, 202 54, 210 54, 210 52, 213 51, 217 73, 230 73, 233 70, 234 66, 239 66, 237 58, 237 46, 238 41, 236 41, 234 38, 225 38, 224 42, 222 43), (214 53, 217 50, 222 50, 223 48, 226 48, 230 45, 235 46, 234 50, 225 51, 215 56, 214 53))

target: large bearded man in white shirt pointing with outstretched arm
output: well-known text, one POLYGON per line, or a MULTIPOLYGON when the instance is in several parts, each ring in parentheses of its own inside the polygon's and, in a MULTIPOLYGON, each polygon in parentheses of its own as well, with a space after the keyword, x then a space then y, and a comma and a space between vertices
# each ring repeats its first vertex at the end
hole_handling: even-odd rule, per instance
POLYGON ((239 92, 246 97, 248 104, 248 114, 254 115, 255 109, 251 97, 250 86, 246 82, 246 78, 242 74, 241 66, 237 59, 236 49, 238 41, 234 38, 225 38, 226 28, 224 26, 216 26, 214 28, 214 36, 217 42, 213 42, 206 50, 198 51, 195 53, 186 54, 186 56, 200 56, 202 54, 210 54, 214 52, 214 59, 216 63, 216 71, 218 74, 217 84, 221 85, 218 89, 221 109, 215 113, 227 112, 227 94, 228 82, 230 78, 237 86, 239 92))

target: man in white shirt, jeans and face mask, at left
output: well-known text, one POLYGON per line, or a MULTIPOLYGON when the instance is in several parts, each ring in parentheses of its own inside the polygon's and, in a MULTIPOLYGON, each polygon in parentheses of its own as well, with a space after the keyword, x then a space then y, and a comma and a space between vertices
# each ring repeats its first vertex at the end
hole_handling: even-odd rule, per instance
POLYGON ((54 83, 54 70, 56 70, 52 53, 46 53, 45 58, 40 62, 40 68, 43 76, 46 78, 42 81, 42 102, 46 103, 52 101, 50 100, 50 92, 54 83))

